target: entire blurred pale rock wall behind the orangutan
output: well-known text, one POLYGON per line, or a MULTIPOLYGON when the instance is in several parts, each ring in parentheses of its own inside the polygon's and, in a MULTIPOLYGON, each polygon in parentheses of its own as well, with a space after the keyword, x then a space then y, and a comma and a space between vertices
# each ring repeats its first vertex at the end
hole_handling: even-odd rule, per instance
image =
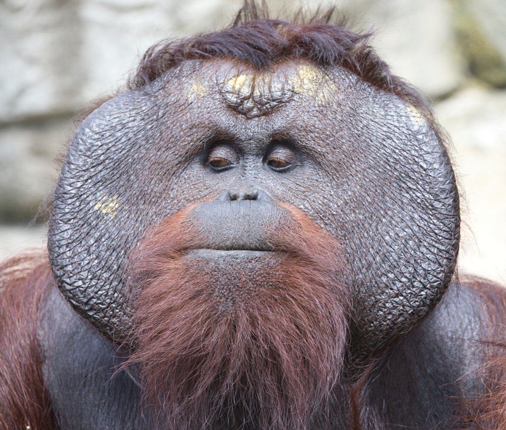
MULTIPOLYGON (((276 14, 292 2, 267 3, 276 14)), ((506 284, 506 2, 334 3, 355 29, 375 30, 377 50, 424 92, 452 136, 464 197, 460 271, 506 284)), ((241 4, 0 2, 0 257, 45 245, 44 219, 29 224, 51 192, 76 108, 117 89, 153 42, 220 28, 241 4)), ((320 4, 330 2, 303 3, 320 4)))

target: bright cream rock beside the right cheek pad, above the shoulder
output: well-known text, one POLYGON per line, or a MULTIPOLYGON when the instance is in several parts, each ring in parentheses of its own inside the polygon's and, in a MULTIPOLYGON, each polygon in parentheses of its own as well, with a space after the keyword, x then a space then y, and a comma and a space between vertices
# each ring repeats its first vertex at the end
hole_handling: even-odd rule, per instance
POLYGON ((462 273, 506 285, 506 91, 470 87, 437 104, 454 143, 462 201, 462 273))

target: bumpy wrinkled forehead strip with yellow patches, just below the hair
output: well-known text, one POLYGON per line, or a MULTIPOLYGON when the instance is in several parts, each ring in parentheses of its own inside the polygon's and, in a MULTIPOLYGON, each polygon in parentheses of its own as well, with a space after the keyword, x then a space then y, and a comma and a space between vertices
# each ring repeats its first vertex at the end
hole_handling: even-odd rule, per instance
POLYGON ((268 70, 222 64, 215 74, 205 69, 191 82, 192 96, 218 94, 228 107, 246 117, 268 114, 297 95, 323 103, 336 89, 335 82, 310 63, 285 63, 268 70))

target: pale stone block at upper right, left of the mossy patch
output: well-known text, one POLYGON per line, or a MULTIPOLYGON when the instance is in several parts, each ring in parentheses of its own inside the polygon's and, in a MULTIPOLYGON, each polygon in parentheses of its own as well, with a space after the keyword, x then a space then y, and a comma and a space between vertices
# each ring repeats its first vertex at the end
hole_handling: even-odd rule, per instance
POLYGON ((464 77, 463 59, 452 30, 449 2, 360 0, 347 10, 361 26, 375 30, 373 46, 394 73, 431 98, 454 91, 464 77))

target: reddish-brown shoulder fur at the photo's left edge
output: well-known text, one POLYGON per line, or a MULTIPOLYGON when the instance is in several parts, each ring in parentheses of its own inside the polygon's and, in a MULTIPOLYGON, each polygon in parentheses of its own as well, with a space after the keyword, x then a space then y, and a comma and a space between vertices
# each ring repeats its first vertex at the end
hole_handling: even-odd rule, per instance
POLYGON ((37 306, 51 279, 46 252, 0 265, 0 429, 54 428, 36 339, 37 306))

